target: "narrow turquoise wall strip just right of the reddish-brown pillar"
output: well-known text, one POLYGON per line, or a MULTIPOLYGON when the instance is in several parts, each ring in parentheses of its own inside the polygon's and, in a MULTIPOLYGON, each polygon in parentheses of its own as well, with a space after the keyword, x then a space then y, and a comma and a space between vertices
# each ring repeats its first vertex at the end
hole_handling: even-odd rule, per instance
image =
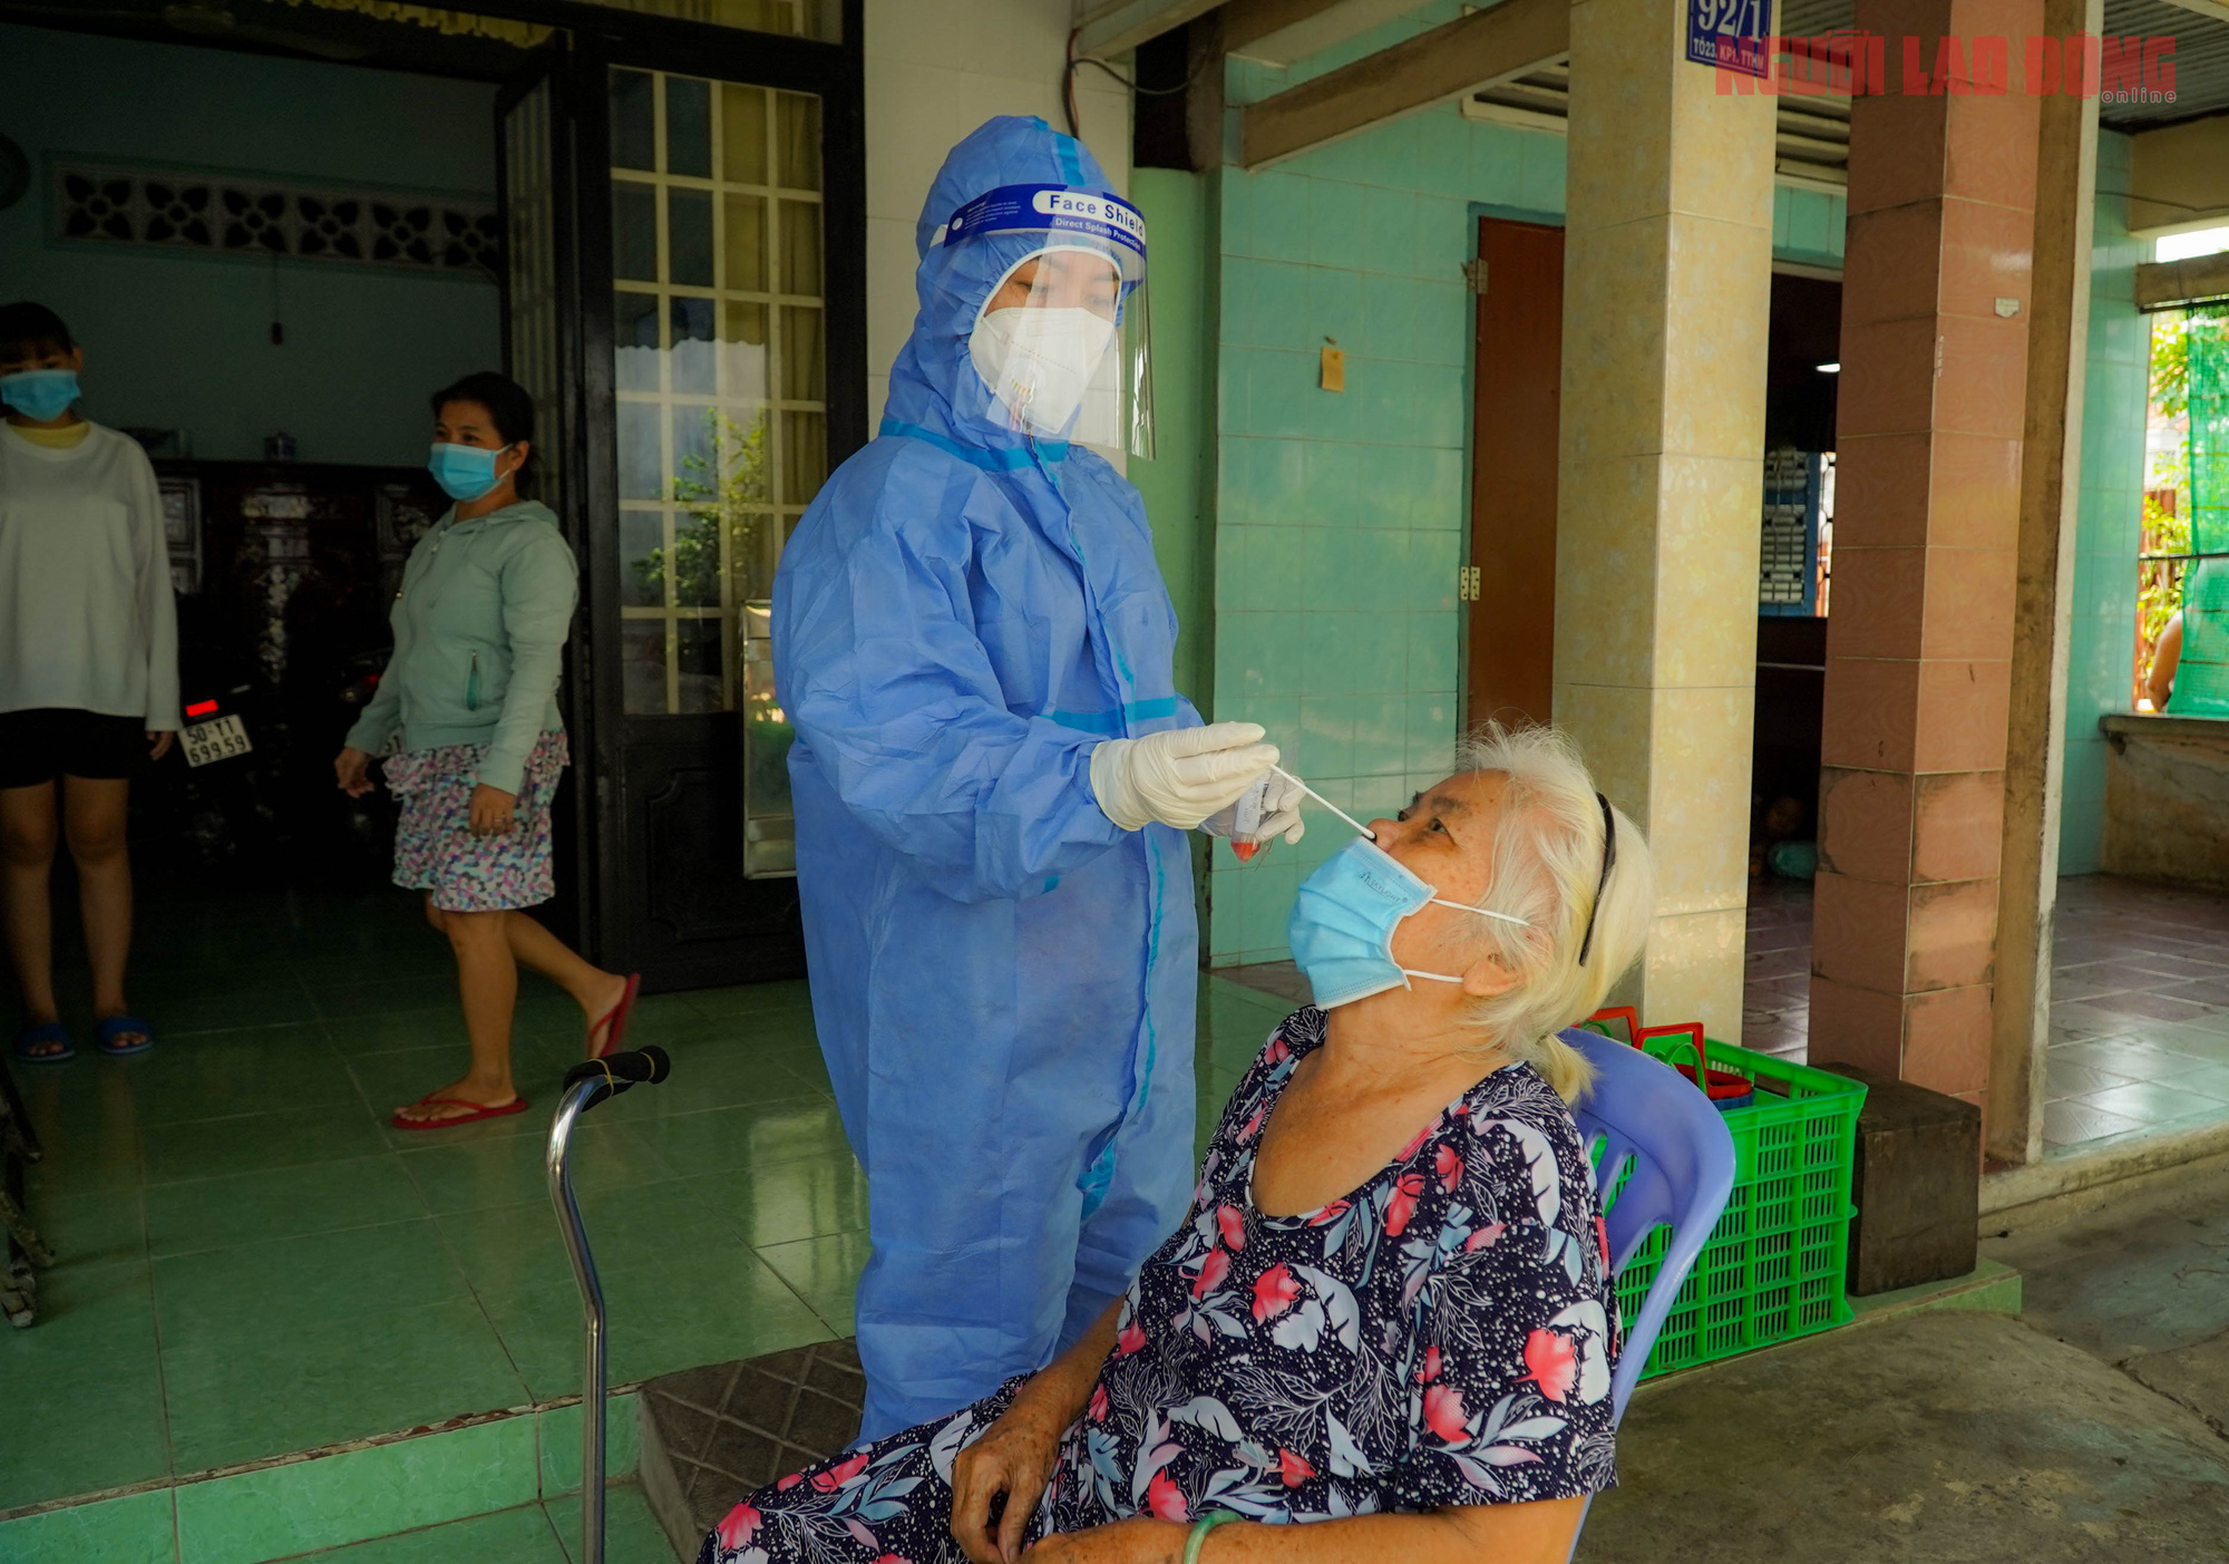
POLYGON ((2129 138, 2097 134, 2097 238, 2091 250, 2089 374, 2082 385, 2082 499, 2066 655, 2066 766, 2060 873, 2093 873, 2104 835, 2104 735, 2129 711, 2135 657, 2135 553, 2144 506, 2144 399, 2151 316, 2135 312, 2129 238, 2129 138))

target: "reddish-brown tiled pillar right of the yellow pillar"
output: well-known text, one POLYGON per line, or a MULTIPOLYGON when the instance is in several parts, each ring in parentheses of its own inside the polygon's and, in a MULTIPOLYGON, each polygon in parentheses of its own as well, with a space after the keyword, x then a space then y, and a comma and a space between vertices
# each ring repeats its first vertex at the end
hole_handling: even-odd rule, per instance
MULTIPOLYGON (((1859 0, 2022 38, 2042 0, 1859 0)), ((1895 47, 1890 47, 1895 53, 1895 47)), ((1892 62, 1895 74, 1895 62, 1892 62)), ((1810 1056, 1979 1101, 2004 824, 2037 100, 1855 102, 1810 1056)))

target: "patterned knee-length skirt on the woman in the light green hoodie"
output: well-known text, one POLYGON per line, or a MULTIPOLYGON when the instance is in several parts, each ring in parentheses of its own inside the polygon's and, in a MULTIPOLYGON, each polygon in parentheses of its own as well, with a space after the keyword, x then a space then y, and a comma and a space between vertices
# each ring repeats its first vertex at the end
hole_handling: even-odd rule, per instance
POLYGON ((551 873, 551 800, 571 751, 564 733, 544 733, 526 757, 526 780, 510 807, 513 829, 473 835, 473 789, 486 744, 444 744, 388 755, 381 769, 401 804, 395 824, 395 884, 430 891, 441 911, 513 911, 557 893, 551 873))

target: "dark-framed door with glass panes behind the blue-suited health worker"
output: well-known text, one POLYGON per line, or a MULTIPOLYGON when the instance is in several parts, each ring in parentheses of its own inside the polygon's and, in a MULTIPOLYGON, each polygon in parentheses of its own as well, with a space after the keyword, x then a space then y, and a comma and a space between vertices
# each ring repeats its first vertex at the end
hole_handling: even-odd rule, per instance
POLYGON ((615 25, 502 105, 508 359, 582 564, 580 927, 653 991, 805 971, 765 624, 867 437, 856 13, 847 38, 615 25))

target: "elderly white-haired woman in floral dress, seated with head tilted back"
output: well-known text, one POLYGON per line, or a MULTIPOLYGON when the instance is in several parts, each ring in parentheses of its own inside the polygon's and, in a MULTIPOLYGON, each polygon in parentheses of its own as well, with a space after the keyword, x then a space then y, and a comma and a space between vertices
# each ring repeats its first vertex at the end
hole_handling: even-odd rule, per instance
POLYGON ((1634 958, 1649 851, 1547 729, 1489 729, 1371 833, 1302 884, 1320 1007, 1128 1297, 1036 1375, 753 1493, 700 1564, 1565 1560, 1616 1482, 1618 1314, 1556 1032, 1634 958))

